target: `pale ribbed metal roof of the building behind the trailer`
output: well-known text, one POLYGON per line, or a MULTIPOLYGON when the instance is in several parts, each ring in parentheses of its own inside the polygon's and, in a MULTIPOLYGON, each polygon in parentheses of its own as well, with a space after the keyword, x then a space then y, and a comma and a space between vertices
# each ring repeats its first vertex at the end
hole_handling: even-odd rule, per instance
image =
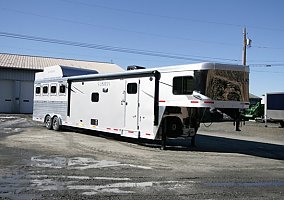
POLYGON ((42 71, 44 67, 54 65, 92 69, 99 73, 124 71, 113 63, 0 53, 0 67, 3 68, 42 71))

